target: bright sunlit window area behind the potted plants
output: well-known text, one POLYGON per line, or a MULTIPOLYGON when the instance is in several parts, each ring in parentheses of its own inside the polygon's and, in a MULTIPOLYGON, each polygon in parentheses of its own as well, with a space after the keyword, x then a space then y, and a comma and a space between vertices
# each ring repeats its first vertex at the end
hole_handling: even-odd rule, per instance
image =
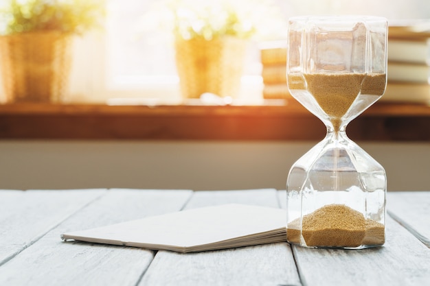
MULTIPOLYGON (((0 0, 0 8, 9 1, 0 0)), ((18 2, 25 1, 35 0, 18 2)), ((267 41, 286 43, 286 26, 291 16, 362 14, 384 16, 389 23, 430 19, 427 0, 211 0, 204 4, 197 0, 92 1, 100 3, 105 17, 102 27, 74 38, 67 102, 105 103, 128 97, 169 104, 181 102, 169 17, 172 5, 178 3, 194 8, 227 2, 239 12, 247 12, 256 23, 259 30, 249 41, 238 95, 250 100, 261 97, 262 93, 259 49, 267 41)))

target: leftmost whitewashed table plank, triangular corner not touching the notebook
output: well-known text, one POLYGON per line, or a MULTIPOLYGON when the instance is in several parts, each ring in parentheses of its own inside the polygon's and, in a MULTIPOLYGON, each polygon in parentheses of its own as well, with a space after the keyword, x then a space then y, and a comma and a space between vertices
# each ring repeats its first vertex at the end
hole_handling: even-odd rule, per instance
POLYGON ((104 192, 0 190, 0 265, 104 192))

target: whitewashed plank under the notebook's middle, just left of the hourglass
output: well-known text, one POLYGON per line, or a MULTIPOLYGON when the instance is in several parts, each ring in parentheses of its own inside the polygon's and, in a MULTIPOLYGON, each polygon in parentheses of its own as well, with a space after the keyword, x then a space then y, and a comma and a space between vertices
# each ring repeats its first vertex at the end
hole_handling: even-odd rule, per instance
MULTIPOLYGON (((276 191, 197 191, 185 208, 242 203, 279 207, 276 191)), ((143 285, 301 285, 288 243, 180 254, 159 251, 143 285)))

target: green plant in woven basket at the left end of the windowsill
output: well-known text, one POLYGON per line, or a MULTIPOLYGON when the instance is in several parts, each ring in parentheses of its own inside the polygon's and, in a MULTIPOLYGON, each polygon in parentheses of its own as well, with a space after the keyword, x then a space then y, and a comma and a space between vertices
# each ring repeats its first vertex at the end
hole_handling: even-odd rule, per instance
POLYGON ((0 12, 5 102, 61 102, 73 36, 98 25, 102 5, 91 0, 9 0, 0 12))

